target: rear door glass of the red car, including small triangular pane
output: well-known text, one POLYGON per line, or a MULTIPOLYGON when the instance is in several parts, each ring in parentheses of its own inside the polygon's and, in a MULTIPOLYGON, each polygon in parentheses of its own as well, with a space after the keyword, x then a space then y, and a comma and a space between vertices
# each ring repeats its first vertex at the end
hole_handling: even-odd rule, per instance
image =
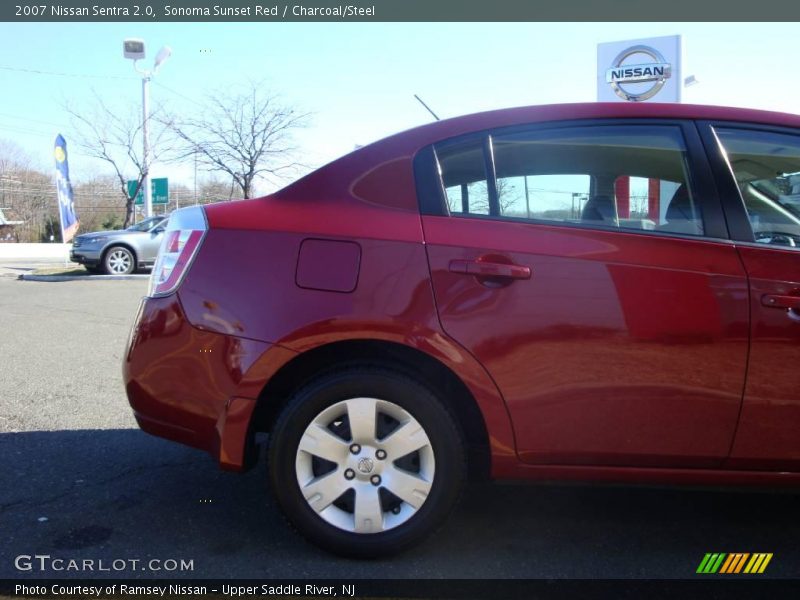
POLYGON ((454 216, 704 233, 678 127, 503 132, 489 143, 471 142, 469 152, 447 146, 436 154, 454 216), (485 149, 489 161, 483 158, 485 149), (459 202, 465 196, 468 202, 459 202))

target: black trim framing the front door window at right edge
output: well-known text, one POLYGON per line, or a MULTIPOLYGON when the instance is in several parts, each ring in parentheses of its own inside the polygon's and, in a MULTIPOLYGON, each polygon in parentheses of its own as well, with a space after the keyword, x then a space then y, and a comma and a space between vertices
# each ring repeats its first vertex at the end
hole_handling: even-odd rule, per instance
MULTIPOLYGON (((753 226, 747 216, 744 198, 736 183, 736 175, 728 162, 728 157, 723 151, 722 143, 717 137, 717 129, 743 129, 761 133, 779 133, 791 135, 800 140, 800 131, 793 127, 766 125, 748 121, 697 121, 697 127, 706 147, 711 169, 717 181, 720 203, 725 211, 725 219, 731 232, 731 239, 758 248, 772 250, 780 249, 778 246, 770 247, 767 244, 756 242, 753 226)), ((793 250, 796 252, 797 250, 793 250)))

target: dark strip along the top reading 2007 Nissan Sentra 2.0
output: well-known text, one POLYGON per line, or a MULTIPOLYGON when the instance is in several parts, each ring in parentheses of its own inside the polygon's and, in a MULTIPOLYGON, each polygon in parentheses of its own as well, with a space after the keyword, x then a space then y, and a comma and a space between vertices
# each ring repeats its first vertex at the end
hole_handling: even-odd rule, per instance
POLYGON ((797 21, 795 0, 4 0, 29 22, 797 21))

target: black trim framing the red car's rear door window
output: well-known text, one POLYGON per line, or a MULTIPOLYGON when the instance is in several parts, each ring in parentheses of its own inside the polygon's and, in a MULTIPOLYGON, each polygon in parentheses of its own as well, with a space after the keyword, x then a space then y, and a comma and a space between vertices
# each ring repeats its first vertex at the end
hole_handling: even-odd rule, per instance
MULTIPOLYGON (((639 232, 636 229, 625 229, 617 227, 606 227, 602 225, 592 224, 587 225, 583 223, 570 223, 565 221, 555 220, 542 220, 542 219, 527 219, 517 217, 501 217, 498 215, 471 215, 471 214, 457 214, 452 215, 458 218, 479 218, 491 219, 498 221, 508 221, 515 223, 530 223, 530 224, 547 224, 557 227, 578 227, 582 229, 601 229, 604 231, 616 231, 626 233, 642 233, 644 235, 664 235, 668 237, 679 237, 686 239, 711 239, 711 240, 728 240, 730 234, 728 225, 725 219, 725 212, 720 203, 719 194, 717 193, 717 184, 715 172, 712 171, 709 159, 706 155, 706 149, 703 140, 698 131, 698 127, 692 120, 681 119, 579 119, 570 121, 549 121, 545 123, 522 123, 519 125, 504 126, 498 128, 491 128, 482 131, 471 132, 463 136, 456 136, 453 138, 441 140, 435 143, 438 147, 450 147, 460 143, 469 143, 478 141, 483 138, 484 155, 485 159, 491 163, 491 169, 487 166, 487 184, 489 183, 489 174, 491 173, 492 185, 490 187, 490 202, 492 201, 492 194, 494 194, 495 201, 497 201, 497 188, 496 188, 496 172, 494 168, 494 156, 487 152, 487 146, 490 146, 491 137, 495 135, 507 135, 509 133, 525 133, 528 131, 539 132, 554 129, 569 129, 575 127, 620 127, 620 126, 662 126, 677 128, 682 137, 686 148, 686 167, 688 169, 688 183, 693 193, 693 197, 698 203, 701 215, 703 217, 704 233, 703 235, 690 235, 690 234, 676 234, 666 231, 646 230, 639 232), (493 188, 493 189, 491 189, 493 188)), ((423 215, 430 216, 451 216, 448 210, 447 199, 443 189, 441 177, 439 176, 438 162, 433 167, 425 167, 422 163, 432 158, 436 161, 436 154, 433 150, 433 144, 426 146, 414 159, 415 175, 417 177, 417 193, 420 203, 420 212, 423 215), (431 180, 430 174, 435 175, 435 181, 431 180)), ((491 206, 491 205, 490 205, 491 206)), ((497 212, 499 213, 499 202, 497 203, 497 212)))

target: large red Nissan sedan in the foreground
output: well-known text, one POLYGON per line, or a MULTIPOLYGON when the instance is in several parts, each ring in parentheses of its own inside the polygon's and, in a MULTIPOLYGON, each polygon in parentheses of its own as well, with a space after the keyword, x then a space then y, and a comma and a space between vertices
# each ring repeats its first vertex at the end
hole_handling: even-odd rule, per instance
POLYGON ((124 377, 350 556, 468 477, 798 484, 800 117, 500 110, 180 210, 124 377))

